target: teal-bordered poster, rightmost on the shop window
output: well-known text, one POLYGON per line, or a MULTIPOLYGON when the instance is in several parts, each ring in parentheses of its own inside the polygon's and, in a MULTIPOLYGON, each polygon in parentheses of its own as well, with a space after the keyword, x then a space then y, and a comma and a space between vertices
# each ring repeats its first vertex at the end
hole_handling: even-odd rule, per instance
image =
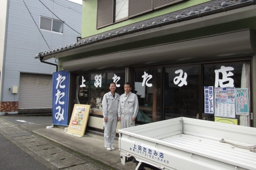
POLYGON ((249 115, 248 88, 235 89, 236 114, 249 115))

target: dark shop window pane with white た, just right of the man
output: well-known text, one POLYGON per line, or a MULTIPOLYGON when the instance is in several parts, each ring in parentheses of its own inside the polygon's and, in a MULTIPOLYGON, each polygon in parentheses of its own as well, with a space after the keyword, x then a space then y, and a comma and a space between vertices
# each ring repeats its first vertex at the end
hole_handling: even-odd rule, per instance
POLYGON ((134 93, 139 101, 138 121, 162 120, 161 69, 135 71, 134 93))

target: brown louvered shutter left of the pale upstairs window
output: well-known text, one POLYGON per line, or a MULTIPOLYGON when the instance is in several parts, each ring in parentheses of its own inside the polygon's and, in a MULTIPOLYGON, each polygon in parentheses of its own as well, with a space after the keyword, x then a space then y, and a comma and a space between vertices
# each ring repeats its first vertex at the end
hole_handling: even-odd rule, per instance
POLYGON ((114 19, 113 0, 98 0, 97 29, 113 24, 114 19))

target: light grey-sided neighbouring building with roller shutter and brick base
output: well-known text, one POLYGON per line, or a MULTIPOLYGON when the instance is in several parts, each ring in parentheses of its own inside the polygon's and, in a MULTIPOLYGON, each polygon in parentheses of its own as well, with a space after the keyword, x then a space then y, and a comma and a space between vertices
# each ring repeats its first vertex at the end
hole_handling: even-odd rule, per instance
MULTIPOLYGON (((82 5, 67 0, 40 1, 2 0, 0 3, 1 115, 5 112, 51 112, 52 73, 56 66, 35 60, 34 54, 69 44, 80 37, 82 5), (13 93, 15 90, 17 93, 13 93)), ((55 59, 47 62, 56 64, 55 59)))

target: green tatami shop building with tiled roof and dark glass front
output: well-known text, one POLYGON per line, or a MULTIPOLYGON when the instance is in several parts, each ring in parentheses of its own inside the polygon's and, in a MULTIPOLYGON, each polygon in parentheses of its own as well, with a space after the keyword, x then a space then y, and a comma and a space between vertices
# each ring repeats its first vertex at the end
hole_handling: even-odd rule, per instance
POLYGON ((120 85, 119 94, 125 82, 132 83, 139 98, 137 124, 183 116, 256 127, 254 4, 83 0, 82 39, 38 57, 57 58, 60 70, 71 73, 70 101, 91 104, 91 130, 103 131, 96 98, 111 81, 120 85), (247 88, 245 100, 236 101, 231 87, 247 88))

